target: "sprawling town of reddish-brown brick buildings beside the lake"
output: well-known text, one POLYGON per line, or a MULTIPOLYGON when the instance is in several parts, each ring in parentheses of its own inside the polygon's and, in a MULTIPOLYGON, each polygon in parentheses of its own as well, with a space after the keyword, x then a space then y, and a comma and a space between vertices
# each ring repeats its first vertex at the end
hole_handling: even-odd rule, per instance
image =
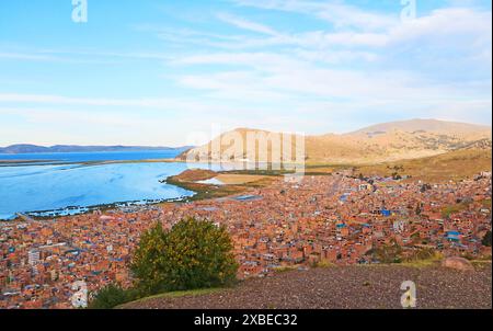
MULTIPOLYGON (((458 182, 371 176, 351 171, 282 176, 242 195, 0 224, 0 308, 72 308, 73 284, 89 293, 133 284, 128 265, 140 233, 186 217, 226 226, 238 278, 288 267, 387 263, 372 254, 397 246, 402 256, 429 249, 444 256, 491 259, 491 172, 458 182)), ((401 256, 401 258, 402 258, 401 256)))

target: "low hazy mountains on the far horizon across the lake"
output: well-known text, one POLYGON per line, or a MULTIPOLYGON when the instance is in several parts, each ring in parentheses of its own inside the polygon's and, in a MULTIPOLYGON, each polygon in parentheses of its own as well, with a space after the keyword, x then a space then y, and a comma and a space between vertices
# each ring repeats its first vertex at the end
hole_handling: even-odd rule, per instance
POLYGON ((0 153, 39 153, 39 152, 96 152, 96 151, 139 151, 139 150, 186 150, 184 147, 148 147, 148 146, 77 146, 77 145, 56 145, 44 147, 28 144, 18 144, 8 147, 0 147, 0 153))

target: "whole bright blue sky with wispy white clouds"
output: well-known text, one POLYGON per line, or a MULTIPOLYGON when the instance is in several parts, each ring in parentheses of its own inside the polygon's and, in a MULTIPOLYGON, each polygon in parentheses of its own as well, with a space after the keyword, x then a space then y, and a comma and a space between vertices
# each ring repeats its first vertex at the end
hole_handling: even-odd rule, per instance
POLYGON ((0 1, 0 146, 490 124, 491 1, 410 2, 0 1))

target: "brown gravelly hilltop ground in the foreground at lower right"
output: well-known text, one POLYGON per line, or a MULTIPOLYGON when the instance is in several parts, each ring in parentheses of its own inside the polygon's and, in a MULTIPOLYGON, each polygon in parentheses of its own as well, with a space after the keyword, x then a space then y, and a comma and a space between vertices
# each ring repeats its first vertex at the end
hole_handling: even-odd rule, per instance
POLYGON ((125 308, 298 309, 397 308, 403 281, 417 287, 417 308, 492 309, 491 263, 474 272, 440 266, 342 266, 291 271, 231 289, 179 298, 152 298, 125 308))

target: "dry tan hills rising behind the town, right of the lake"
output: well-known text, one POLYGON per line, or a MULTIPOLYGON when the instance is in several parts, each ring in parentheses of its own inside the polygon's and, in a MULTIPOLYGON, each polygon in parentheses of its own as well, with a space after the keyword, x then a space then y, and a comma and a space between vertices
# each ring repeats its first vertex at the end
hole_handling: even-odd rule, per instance
MULTIPOLYGON (((184 151, 179 158, 268 162, 270 159, 262 158, 278 155, 278 150, 273 152, 271 145, 267 145, 266 151, 260 151, 257 147, 236 155, 234 138, 242 137, 243 141, 246 141, 248 133, 270 134, 257 129, 234 129, 216 137, 207 145, 184 151), (219 153, 211 152, 213 144, 220 146, 219 153)), ((295 137, 291 138, 295 140, 295 137)), ((416 159, 471 148, 491 153, 491 140, 490 126, 437 119, 410 119, 378 124, 342 135, 306 136, 305 157, 307 163, 362 164, 416 159)), ((243 146, 245 145, 243 142, 243 146)), ((291 148, 296 148, 295 144, 291 148)))

